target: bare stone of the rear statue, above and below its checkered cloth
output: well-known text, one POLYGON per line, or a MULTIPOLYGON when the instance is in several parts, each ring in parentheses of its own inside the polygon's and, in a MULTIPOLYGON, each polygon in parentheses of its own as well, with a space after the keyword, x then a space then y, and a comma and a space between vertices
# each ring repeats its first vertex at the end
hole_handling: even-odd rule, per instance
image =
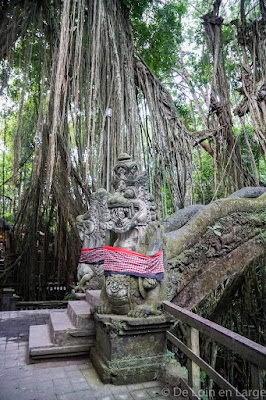
MULTIPOLYGON (((109 193, 105 189, 99 189, 91 196, 91 205, 84 215, 76 219, 79 236, 82 241, 82 250, 102 248, 106 230, 110 228, 110 212, 107 207, 109 193)), ((83 256, 83 259, 86 257, 83 256)), ((82 260, 82 257, 81 257, 82 260)), ((94 263, 80 262, 77 269, 78 284, 75 292, 85 292, 90 289, 100 289, 104 283, 103 260, 96 260, 94 263), (92 279, 94 278, 94 279, 92 279)))

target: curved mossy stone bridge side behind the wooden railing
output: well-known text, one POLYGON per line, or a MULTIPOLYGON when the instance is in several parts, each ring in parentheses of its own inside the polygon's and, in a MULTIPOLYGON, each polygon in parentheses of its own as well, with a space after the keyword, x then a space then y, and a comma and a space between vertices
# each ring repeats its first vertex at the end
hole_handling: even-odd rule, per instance
POLYGON ((187 207, 164 226, 168 299, 191 310, 214 291, 229 290, 265 254, 266 188, 187 207))

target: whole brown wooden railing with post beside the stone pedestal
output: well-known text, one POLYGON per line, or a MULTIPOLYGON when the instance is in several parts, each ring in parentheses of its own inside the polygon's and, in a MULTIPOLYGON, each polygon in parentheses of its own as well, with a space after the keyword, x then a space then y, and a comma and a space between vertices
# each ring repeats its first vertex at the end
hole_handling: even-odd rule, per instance
POLYGON ((248 397, 249 399, 262 400, 263 394, 266 395, 266 391, 262 389, 260 370, 266 369, 266 347, 168 301, 163 303, 163 307, 166 312, 172 314, 189 327, 187 345, 170 332, 167 332, 167 338, 189 359, 188 384, 181 379, 181 388, 186 390, 191 399, 200 398, 200 369, 202 369, 224 391, 224 396, 222 397, 242 400, 247 400, 248 397), (200 357, 199 332, 238 353, 250 362, 252 390, 247 393, 247 397, 244 395, 246 393, 240 393, 200 357))

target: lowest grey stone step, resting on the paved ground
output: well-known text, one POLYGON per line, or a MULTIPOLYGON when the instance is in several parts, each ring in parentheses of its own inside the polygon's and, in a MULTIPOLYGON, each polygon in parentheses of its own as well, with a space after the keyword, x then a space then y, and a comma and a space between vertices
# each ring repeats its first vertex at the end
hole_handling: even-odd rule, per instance
POLYGON ((88 340, 86 344, 56 346, 51 341, 50 326, 30 326, 29 335, 29 362, 45 358, 58 358, 88 355, 94 341, 88 340))

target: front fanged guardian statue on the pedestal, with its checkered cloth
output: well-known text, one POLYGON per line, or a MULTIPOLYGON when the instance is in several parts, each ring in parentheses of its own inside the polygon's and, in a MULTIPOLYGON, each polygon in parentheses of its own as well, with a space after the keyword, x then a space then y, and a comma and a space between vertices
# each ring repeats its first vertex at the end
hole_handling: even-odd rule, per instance
POLYGON ((97 313, 127 314, 132 317, 159 315, 159 307, 164 300, 163 274, 149 274, 144 265, 153 265, 155 269, 156 263, 163 266, 162 234, 156 222, 156 207, 149 193, 148 177, 146 173, 139 172, 137 164, 128 154, 119 156, 114 174, 115 193, 108 199, 108 208, 112 221, 111 233, 115 237, 111 244, 115 246, 114 250, 120 250, 106 250, 115 254, 110 257, 105 255, 106 278, 97 313), (158 254, 157 258, 155 254, 158 254), (148 257, 145 259, 145 256, 148 257), (121 271, 113 270, 112 265, 108 264, 108 257, 111 264, 116 257, 112 265, 120 266, 121 271), (127 271, 128 263, 140 264, 146 273, 127 271))

